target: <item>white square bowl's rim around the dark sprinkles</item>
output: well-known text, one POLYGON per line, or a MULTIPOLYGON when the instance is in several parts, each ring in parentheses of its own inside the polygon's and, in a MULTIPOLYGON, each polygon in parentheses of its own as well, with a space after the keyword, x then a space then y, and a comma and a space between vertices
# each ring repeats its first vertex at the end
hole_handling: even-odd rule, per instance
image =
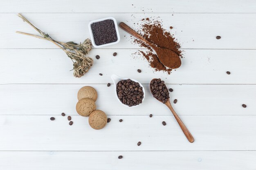
POLYGON ((118 31, 117 20, 115 18, 113 18, 113 17, 101 18, 99 20, 92 20, 92 21, 89 22, 88 26, 89 26, 89 32, 90 32, 90 35, 91 35, 92 45, 95 48, 100 48, 100 47, 103 47, 103 46, 117 44, 120 41, 120 34, 119 34, 119 31, 118 31), (93 36, 93 33, 92 33, 91 24, 94 23, 94 22, 100 22, 100 21, 103 21, 103 20, 113 20, 114 21, 115 29, 117 31, 117 41, 116 42, 111 42, 111 43, 108 43, 108 44, 96 45, 95 42, 94 42, 94 36, 93 36))

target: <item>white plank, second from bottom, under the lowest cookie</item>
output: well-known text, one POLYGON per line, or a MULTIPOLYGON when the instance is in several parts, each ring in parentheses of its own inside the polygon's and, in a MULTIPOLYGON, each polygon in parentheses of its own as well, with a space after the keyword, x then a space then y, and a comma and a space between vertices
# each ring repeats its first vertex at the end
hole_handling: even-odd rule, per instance
POLYGON ((102 130, 90 128, 87 117, 72 116, 72 126, 67 117, 50 117, 0 116, 0 150, 256 150, 255 115, 180 116, 195 138, 193 144, 173 116, 108 116, 111 121, 102 130))

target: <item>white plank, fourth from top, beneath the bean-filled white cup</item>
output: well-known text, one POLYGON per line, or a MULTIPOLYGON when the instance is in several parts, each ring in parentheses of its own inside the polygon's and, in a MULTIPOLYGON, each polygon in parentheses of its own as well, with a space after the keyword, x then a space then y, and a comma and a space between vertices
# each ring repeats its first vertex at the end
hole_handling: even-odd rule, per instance
MULTIPOLYGON (((167 106, 150 94, 144 102, 126 108, 115 97, 114 86, 87 84, 98 92, 97 108, 107 115, 171 115, 167 106)), ((0 85, 0 115, 69 115, 76 113, 77 92, 84 84, 0 85), (35 102, 36 101, 36 102, 35 102)), ((256 115, 256 85, 167 85, 173 88, 170 100, 179 115, 256 115), (243 108, 246 104, 247 108, 243 108)))

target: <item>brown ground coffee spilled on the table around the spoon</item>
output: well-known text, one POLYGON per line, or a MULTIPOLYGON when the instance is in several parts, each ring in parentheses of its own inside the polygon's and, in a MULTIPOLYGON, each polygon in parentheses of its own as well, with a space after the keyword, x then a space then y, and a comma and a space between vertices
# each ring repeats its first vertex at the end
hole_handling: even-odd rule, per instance
MULTIPOLYGON (((175 42, 175 38, 171 35, 170 32, 165 30, 161 22, 159 21, 151 21, 151 20, 141 20, 143 24, 141 25, 140 34, 152 44, 159 46, 161 48, 170 49, 174 51, 177 55, 182 57, 182 51, 179 50, 180 45, 175 42)), ((139 44, 141 47, 146 47, 148 51, 139 51, 146 60, 148 60, 150 66, 155 69, 155 71, 165 71, 168 74, 171 73, 171 68, 166 68, 157 58, 155 52, 144 42, 134 39, 134 42, 139 44)))

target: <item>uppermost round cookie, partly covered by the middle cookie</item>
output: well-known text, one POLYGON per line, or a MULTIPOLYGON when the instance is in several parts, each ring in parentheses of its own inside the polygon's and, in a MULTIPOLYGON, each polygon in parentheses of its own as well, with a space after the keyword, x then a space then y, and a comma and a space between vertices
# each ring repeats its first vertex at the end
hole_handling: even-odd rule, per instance
POLYGON ((81 100, 83 98, 89 98, 89 99, 93 99, 94 102, 97 100, 97 91, 91 87, 91 86, 84 86, 82 88, 80 88, 80 90, 77 93, 77 99, 81 100))

